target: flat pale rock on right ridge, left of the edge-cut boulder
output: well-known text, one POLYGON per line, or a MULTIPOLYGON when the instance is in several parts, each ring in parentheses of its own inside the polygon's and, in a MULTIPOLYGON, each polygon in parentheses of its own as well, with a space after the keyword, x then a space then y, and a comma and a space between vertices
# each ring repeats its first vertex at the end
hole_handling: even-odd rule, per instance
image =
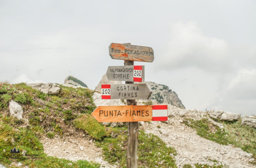
POLYGON ((214 119, 220 119, 222 121, 237 121, 241 117, 241 114, 225 112, 224 110, 218 110, 209 115, 214 119))

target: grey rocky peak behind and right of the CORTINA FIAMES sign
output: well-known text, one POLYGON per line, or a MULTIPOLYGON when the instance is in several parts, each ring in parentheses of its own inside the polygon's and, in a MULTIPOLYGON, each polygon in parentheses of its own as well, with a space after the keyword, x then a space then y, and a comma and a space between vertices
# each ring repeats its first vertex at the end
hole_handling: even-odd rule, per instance
POLYGON ((152 94, 150 100, 153 103, 171 104, 179 108, 185 109, 178 95, 169 89, 166 85, 156 84, 154 82, 145 82, 150 87, 152 94))

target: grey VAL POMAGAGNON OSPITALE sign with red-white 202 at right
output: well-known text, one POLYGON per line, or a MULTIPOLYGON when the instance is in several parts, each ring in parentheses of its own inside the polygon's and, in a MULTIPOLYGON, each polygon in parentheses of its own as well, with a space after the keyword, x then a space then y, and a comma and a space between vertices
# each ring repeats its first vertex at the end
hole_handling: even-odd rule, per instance
POLYGON ((109 81, 144 82, 145 66, 109 66, 106 72, 109 81))

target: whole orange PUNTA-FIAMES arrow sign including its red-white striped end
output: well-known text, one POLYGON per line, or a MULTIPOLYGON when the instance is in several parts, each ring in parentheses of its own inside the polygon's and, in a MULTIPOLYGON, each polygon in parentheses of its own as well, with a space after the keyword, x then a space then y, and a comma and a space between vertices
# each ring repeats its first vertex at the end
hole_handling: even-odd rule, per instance
POLYGON ((167 105, 99 106, 92 116, 98 122, 167 121, 167 105))

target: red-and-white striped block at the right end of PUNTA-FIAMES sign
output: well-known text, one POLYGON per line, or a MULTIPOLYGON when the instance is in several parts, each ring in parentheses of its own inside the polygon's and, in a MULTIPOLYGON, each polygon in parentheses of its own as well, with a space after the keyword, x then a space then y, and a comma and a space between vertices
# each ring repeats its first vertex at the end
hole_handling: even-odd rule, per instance
POLYGON ((152 121, 167 121, 168 107, 167 105, 153 105, 152 106, 152 121))

